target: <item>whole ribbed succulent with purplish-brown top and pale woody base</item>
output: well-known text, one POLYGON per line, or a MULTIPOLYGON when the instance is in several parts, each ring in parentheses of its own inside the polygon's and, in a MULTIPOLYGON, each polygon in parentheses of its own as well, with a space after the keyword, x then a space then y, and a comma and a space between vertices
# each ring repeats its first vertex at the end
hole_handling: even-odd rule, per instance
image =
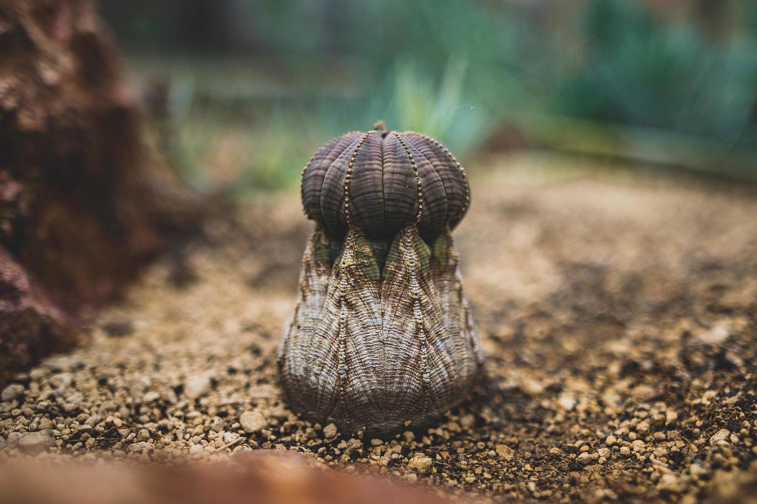
POLYGON ((481 350, 450 234, 470 202, 459 162, 377 122, 310 159, 302 202, 316 227, 279 347, 294 410, 386 433, 463 400, 481 350))

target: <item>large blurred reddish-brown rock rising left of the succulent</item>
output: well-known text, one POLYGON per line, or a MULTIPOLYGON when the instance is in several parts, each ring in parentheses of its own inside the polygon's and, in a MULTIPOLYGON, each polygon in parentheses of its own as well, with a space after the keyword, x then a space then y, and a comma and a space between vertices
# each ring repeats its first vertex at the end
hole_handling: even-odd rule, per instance
POLYGON ((140 136, 90 0, 0 0, 0 383, 198 218, 140 136))

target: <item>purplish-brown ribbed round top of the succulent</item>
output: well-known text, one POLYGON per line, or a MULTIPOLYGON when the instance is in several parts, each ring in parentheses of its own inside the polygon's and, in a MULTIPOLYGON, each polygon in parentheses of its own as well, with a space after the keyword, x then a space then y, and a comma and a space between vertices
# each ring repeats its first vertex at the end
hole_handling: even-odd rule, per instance
POLYGON ((353 131, 321 147, 302 174, 307 217, 335 237, 347 222, 369 237, 391 237, 414 219, 428 239, 463 218, 465 170, 444 145, 412 131, 353 131))

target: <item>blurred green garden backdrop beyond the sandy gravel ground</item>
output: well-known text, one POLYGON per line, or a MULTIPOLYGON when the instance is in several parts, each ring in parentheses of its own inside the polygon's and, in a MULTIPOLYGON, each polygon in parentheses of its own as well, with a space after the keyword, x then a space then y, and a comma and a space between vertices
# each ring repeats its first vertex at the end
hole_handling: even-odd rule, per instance
POLYGON ((550 149, 757 178, 757 2, 101 2, 157 141, 232 195, 385 119, 463 160, 550 149))

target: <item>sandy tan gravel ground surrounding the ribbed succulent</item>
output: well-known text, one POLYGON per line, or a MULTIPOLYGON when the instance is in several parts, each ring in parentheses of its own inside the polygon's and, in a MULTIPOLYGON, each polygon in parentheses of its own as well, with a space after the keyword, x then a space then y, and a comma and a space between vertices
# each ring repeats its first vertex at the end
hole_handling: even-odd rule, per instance
POLYGON ((456 241, 489 379, 437 426, 346 438, 283 403, 311 225, 293 195, 209 221, 91 345, 16 376, 0 459, 292 450, 467 496, 754 502, 757 193, 551 161, 473 167, 456 241))

